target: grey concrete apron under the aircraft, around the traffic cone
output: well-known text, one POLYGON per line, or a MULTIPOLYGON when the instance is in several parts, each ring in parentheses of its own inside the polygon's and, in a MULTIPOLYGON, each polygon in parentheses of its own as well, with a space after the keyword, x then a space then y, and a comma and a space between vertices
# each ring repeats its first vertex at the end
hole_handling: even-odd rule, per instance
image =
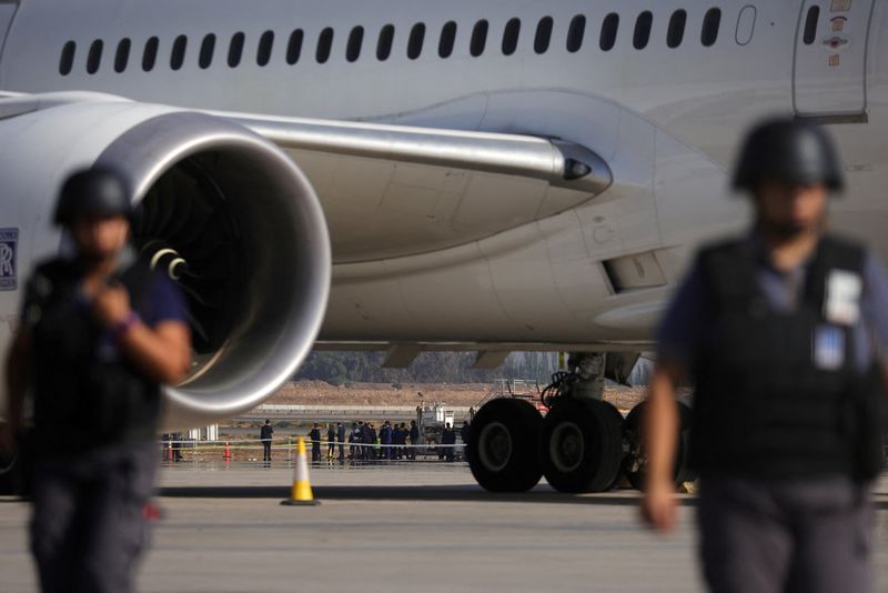
MULTIPOLYGON (((316 466, 314 507, 279 504, 291 480, 285 462, 163 469, 139 591, 703 591, 693 497, 660 536, 638 526, 634 492, 493 495, 464 464, 316 466)), ((888 592, 888 478, 878 491, 876 591, 888 592)), ((36 591, 27 517, 0 503, 3 593, 36 591)))

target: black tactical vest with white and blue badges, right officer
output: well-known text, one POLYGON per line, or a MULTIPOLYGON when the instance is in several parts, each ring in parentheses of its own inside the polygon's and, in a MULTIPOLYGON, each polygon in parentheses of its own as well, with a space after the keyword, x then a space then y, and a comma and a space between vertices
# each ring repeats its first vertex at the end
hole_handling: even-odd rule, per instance
POLYGON ((824 238, 797 306, 781 312, 759 288, 748 242, 702 251, 713 328, 694 372, 690 458, 699 472, 765 479, 878 473, 881 376, 876 365, 869 373, 857 369, 852 323, 830 320, 825 309, 841 296, 830 283, 837 271, 862 283, 865 255, 851 242, 824 238))

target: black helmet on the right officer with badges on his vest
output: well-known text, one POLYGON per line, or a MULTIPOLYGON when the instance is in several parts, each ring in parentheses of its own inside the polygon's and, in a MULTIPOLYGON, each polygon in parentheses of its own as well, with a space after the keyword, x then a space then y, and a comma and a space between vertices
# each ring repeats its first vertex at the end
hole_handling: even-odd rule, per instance
POLYGON ((744 142, 734 188, 751 190, 764 180, 823 183, 834 191, 845 187, 841 163, 829 135, 814 123, 786 118, 759 123, 744 142))

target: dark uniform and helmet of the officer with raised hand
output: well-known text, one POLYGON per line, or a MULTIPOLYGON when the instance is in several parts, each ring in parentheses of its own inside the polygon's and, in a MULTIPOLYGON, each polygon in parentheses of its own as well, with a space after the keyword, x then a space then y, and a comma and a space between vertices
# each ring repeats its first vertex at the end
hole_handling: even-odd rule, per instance
MULTIPOLYGON (((114 211, 114 200, 127 198, 109 178, 91 171, 71 180, 97 192, 88 195, 93 208, 114 211)), ((63 190, 58 223, 70 215, 64 200, 63 190)), ((128 208, 128 200, 121 203, 128 208)), ((184 300, 169 279, 130 252, 119 261, 112 279, 145 325, 186 323, 184 300)), ((24 291, 34 420, 31 547, 44 592, 125 593, 147 540, 143 507, 157 465, 161 385, 121 352, 120 330, 95 320, 82 292, 88 271, 78 258, 47 261, 24 291)))

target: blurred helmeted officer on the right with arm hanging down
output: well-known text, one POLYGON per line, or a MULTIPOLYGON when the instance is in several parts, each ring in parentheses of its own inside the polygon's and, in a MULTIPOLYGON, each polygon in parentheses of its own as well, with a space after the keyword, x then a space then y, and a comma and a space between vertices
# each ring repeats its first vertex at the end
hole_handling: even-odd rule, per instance
POLYGON ((751 232, 700 251, 659 330, 643 515, 676 521, 674 396, 690 378, 710 590, 865 592, 888 282, 864 247, 824 231, 842 167, 821 129, 760 123, 734 187, 751 195, 751 232))

